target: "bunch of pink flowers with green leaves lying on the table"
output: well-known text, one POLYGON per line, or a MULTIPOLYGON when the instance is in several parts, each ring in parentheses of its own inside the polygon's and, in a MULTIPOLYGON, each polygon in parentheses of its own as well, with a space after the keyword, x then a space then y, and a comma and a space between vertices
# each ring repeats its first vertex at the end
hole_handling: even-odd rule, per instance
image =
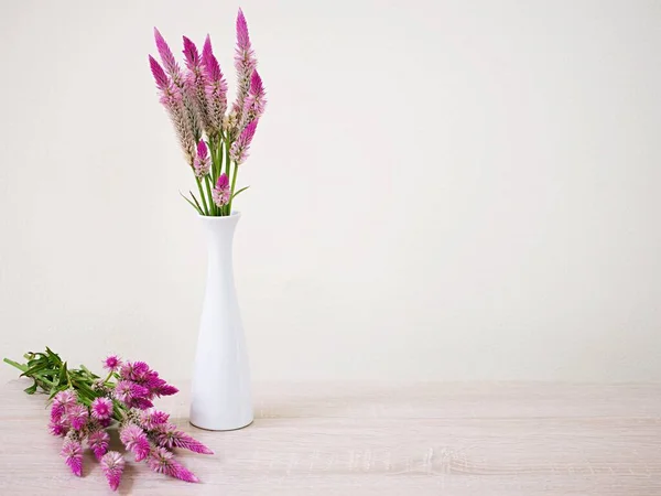
POLYGON ((181 448, 195 453, 214 452, 199 441, 177 429, 169 414, 155 410, 152 401, 178 391, 159 377, 144 362, 126 362, 111 355, 104 360, 105 377, 93 374, 84 365, 68 368, 56 353, 46 347, 45 353, 26 353, 26 364, 4 358, 22 370, 21 377, 33 379, 25 392, 33 395, 37 388, 50 395, 53 435, 64 438, 61 455, 71 471, 83 474, 84 443, 100 462, 104 475, 117 490, 126 465, 124 455, 109 451, 107 430, 117 427, 127 454, 136 462, 145 462, 159 472, 186 482, 198 478, 174 459, 173 450, 181 448))

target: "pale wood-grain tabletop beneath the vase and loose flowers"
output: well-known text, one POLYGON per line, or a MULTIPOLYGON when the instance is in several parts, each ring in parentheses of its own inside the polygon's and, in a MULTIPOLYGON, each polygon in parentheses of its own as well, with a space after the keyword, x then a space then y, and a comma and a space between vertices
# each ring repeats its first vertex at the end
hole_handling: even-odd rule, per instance
MULTIPOLYGON (((68 472, 26 384, 1 386, 0 495, 111 494, 89 453, 68 472)), ((232 432, 193 428, 186 403, 158 406, 215 450, 181 456, 202 483, 131 461, 119 494, 661 495, 661 385, 256 385, 232 432)))

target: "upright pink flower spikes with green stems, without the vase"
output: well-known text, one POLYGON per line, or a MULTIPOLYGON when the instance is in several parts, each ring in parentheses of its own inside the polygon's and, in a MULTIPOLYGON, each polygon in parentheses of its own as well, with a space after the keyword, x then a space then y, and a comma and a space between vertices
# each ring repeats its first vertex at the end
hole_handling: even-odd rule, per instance
POLYGON ((162 65, 150 55, 151 72, 197 184, 198 195, 189 191, 184 198, 199 215, 230 215, 234 198, 248 188, 236 190, 239 165, 267 105, 243 12, 237 17, 237 96, 229 109, 227 82, 208 35, 202 53, 183 36, 185 71, 155 28, 154 37, 162 65))

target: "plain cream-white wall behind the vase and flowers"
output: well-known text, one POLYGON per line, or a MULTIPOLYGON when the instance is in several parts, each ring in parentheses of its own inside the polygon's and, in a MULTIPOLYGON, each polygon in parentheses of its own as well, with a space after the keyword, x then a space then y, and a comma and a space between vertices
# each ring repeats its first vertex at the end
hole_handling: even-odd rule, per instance
MULTIPOLYGON (((2 2, 2 355, 188 377, 205 251, 147 54, 209 31, 234 83, 237 7, 2 2)), ((256 379, 661 380, 659 2, 243 9, 256 379)))

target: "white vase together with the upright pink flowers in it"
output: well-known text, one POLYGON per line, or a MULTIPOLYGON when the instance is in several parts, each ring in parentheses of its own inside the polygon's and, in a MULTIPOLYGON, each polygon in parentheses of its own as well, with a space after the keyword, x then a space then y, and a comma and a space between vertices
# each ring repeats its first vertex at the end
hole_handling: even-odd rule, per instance
POLYGON ((160 100, 174 126, 196 187, 184 198, 206 233, 206 293, 193 371, 191 423, 232 430, 252 422, 250 370, 232 273, 232 238, 240 213, 232 209, 240 165, 266 107, 248 25, 237 17, 236 100, 228 108, 227 82, 207 35, 202 53, 183 36, 182 68, 154 29, 159 63, 149 62, 160 100))

